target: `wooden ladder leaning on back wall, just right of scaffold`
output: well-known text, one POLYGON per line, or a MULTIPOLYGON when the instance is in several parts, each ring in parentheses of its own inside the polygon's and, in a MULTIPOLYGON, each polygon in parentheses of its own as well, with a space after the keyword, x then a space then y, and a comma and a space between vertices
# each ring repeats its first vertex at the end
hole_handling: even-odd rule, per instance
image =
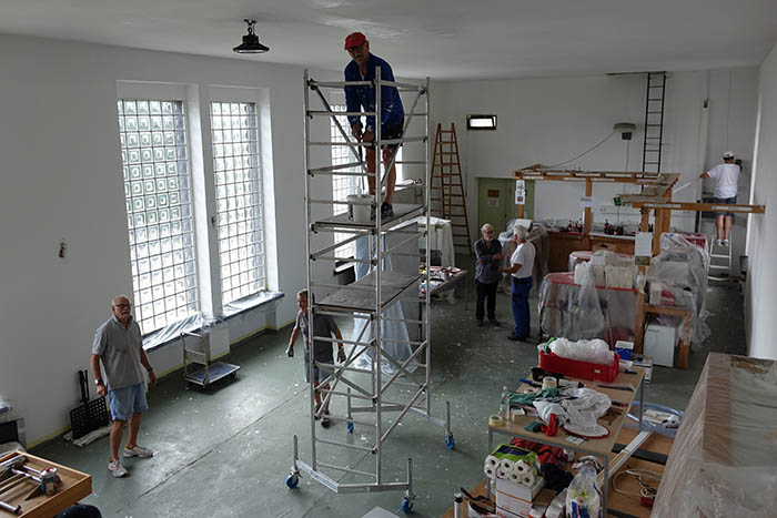
POLYGON ((454 252, 472 254, 470 221, 466 214, 466 199, 464 197, 464 183, 454 123, 451 123, 450 130, 443 130, 442 124, 437 124, 430 189, 432 214, 451 221, 454 252))

